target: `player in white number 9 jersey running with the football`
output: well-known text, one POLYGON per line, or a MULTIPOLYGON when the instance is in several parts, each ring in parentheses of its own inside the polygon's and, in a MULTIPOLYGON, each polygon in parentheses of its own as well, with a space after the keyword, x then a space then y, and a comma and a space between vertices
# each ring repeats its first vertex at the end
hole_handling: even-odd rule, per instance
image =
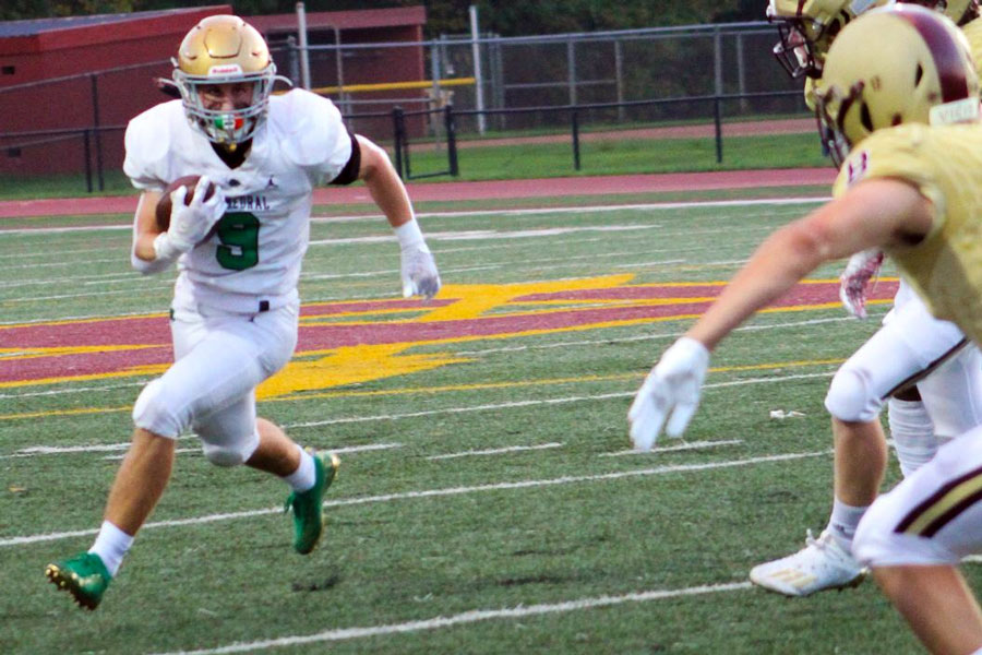
POLYGON ((132 263, 144 272, 177 262, 171 306, 175 364, 141 392, 135 429, 87 551, 46 574, 95 609, 170 476, 175 439, 191 429, 218 466, 247 466, 292 489, 294 548, 323 532, 322 498, 333 453, 304 451, 256 417, 255 386, 289 361, 297 344, 297 282, 307 251, 312 190, 363 180, 400 246, 403 293, 440 288, 433 257, 385 152, 350 134, 331 100, 295 90, 271 96, 276 68, 259 32, 237 16, 201 21, 175 59, 181 99, 141 114, 127 129, 123 164, 141 190, 132 263), (167 186, 165 231, 155 211, 167 186), (212 191, 214 189, 214 191, 212 191), (193 193, 190 203, 185 203, 193 193))

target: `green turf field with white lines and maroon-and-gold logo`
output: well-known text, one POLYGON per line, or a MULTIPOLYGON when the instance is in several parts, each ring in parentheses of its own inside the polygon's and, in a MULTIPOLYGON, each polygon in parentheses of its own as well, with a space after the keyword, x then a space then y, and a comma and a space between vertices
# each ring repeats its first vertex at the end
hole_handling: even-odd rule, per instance
POLYGON ((173 274, 129 270, 125 217, 0 231, 0 653, 920 652, 871 582, 788 599, 746 580, 824 526, 823 397, 891 270, 869 321, 836 302, 840 264, 815 272, 719 347, 684 440, 627 451, 660 350, 812 206, 422 215, 429 303, 396 296, 383 218, 316 221, 300 345, 259 406, 340 455, 324 540, 292 552, 286 486, 185 436, 95 612, 44 567, 94 538, 130 406, 169 359, 173 274))

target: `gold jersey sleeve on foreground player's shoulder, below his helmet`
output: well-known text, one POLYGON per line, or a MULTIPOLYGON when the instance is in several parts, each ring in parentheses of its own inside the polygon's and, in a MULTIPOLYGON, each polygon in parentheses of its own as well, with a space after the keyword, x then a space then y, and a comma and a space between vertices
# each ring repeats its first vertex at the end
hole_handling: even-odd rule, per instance
MULTIPOLYGON (((945 216, 946 198, 938 178, 935 157, 926 156, 931 140, 925 139, 927 126, 908 124, 879 130, 853 148, 839 169, 833 194, 843 195, 852 186, 874 178, 903 180, 931 201, 934 219, 931 235, 941 229, 945 216)), ((930 236, 930 235, 929 235, 930 236)))

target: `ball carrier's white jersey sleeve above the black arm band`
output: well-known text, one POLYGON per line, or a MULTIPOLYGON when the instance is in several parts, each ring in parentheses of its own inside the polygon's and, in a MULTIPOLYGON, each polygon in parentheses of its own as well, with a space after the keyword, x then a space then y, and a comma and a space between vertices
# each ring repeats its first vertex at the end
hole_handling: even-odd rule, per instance
POLYGON ((318 182, 332 181, 352 156, 351 135, 334 103, 316 94, 294 90, 284 97, 288 156, 318 182))

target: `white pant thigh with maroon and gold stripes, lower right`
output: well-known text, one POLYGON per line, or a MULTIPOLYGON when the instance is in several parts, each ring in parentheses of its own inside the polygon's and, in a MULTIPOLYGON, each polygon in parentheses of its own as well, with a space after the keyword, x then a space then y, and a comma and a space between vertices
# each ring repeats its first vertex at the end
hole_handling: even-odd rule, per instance
POLYGON ((853 555, 874 567, 957 564, 982 550, 982 428, 876 499, 863 515, 853 555))

